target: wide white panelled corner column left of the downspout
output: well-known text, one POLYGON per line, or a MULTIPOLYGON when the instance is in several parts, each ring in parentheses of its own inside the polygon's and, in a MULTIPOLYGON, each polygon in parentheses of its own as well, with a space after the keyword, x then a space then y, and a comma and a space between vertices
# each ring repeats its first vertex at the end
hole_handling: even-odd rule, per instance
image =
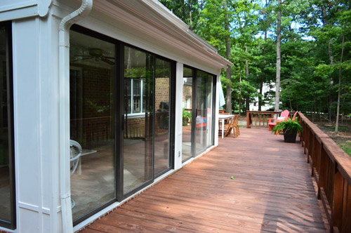
POLYGON ((58 211, 58 29, 54 18, 13 20, 17 232, 62 232, 58 211))

